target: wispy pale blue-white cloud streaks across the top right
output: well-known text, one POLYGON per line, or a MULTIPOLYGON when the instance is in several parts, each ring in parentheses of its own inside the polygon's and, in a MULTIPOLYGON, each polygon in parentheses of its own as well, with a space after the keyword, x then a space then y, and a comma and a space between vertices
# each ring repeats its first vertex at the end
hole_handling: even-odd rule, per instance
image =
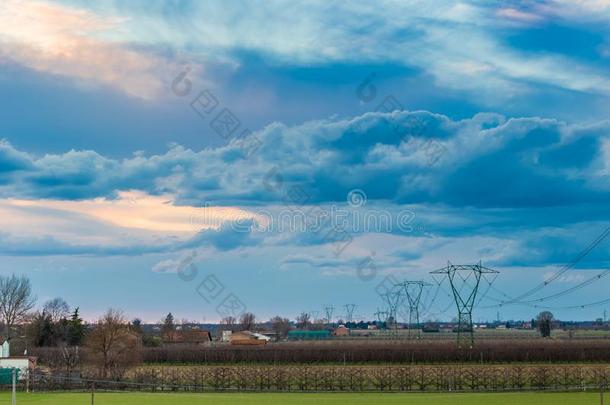
POLYGON ((258 55, 272 65, 397 63, 421 71, 438 85, 468 91, 488 105, 527 95, 536 86, 610 94, 606 72, 594 64, 510 46, 497 29, 498 16, 523 25, 557 14, 574 18, 579 9, 590 17, 607 10, 604 1, 522 7, 513 2, 314 1, 301 6, 269 1, 254 6, 212 1, 175 7, 169 14, 163 1, 98 7, 129 15, 132 41, 159 45, 150 36, 158 32, 162 43, 189 50, 196 59, 232 66, 245 63, 244 54, 258 55))

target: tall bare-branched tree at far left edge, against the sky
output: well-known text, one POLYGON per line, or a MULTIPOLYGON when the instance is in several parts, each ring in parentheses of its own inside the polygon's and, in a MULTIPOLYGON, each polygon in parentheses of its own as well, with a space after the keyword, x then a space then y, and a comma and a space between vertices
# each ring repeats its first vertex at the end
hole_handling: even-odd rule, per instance
POLYGON ((11 339, 12 328, 34 307, 30 280, 25 276, 0 276, 0 318, 6 327, 5 336, 11 339))

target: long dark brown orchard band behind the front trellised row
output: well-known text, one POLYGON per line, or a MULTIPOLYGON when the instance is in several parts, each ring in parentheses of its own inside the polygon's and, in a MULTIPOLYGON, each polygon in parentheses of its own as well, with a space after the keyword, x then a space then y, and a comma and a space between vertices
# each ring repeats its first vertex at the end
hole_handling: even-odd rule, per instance
MULTIPOLYGON (((58 348, 38 348, 42 363, 60 366, 65 355, 58 348)), ((81 353, 86 358, 87 348, 81 353)), ((290 342, 266 346, 143 347, 139 359, 156 364, 328 364, 328 363, 516 363, 609 362, 610 341, 509 340, 481 341, 460 349, 451 341, 327 341, 290 342)))

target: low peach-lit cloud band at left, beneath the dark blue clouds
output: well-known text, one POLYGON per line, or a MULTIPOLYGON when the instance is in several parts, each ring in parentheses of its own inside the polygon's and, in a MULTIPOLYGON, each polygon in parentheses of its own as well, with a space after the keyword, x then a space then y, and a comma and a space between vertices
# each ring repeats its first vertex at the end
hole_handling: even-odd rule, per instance
POLYGON ((4 199, 0 216, 0 253, 15 256, 134 256, 259 243, 250 235, 256 215, 230 207, 174 206, 168 196, 141 192, 120 192, 112 200, 4 199))

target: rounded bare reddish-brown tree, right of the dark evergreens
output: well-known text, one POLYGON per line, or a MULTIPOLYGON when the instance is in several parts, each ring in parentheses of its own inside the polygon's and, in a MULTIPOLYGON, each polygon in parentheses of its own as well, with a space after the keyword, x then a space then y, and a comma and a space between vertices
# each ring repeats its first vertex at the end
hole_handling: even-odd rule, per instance
POLYGON ((101 379, 120 378, 140 361, 138 335, 121 311, 109 309, 89 332, 86 346, 101 379))

